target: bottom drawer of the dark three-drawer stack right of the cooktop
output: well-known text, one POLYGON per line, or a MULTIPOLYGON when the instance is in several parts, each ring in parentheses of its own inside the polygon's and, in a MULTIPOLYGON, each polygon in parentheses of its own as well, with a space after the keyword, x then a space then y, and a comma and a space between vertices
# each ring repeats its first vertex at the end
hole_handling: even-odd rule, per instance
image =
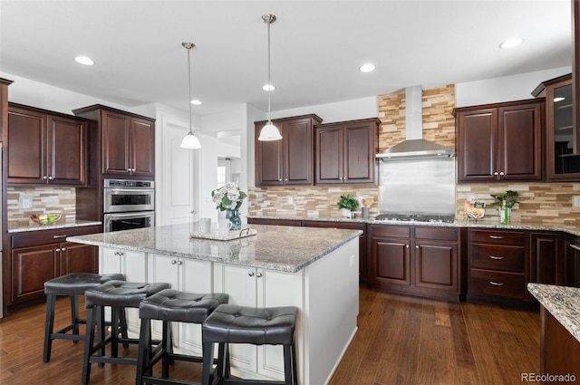
POLYGON ((472 269, 470 293, 523 299, 524 274, 472 269))

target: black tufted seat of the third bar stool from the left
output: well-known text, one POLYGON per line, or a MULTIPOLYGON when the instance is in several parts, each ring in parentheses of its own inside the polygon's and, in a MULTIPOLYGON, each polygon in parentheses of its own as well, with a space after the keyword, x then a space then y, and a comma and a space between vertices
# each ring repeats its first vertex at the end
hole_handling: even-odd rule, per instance
POLYGON ((203 323, 219 304, 227 303, 222 293, 193 294, 165 289, 140 303, 140 318, 171 322, 203 323))

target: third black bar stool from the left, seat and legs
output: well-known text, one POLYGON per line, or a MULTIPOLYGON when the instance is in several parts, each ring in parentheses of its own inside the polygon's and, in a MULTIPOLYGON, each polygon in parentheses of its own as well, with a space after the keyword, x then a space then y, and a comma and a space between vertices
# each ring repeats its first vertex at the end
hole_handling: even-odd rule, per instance
POLYGON ((227 294, 192 294, 165 289, 144 299, 139 306, 141 319, 139 359, 135 384, 193 384, 185 380, 169 379, 169 365, 173 361, 203 362, 202 357, 176 354, 171 341, 171 322, 203 323, 219 304, 227 303, 227 294), (151 320, 163 322, 162 339, 151 349, 151 320), (161 361, 161 377, 152 375, 153 366, 161 361))

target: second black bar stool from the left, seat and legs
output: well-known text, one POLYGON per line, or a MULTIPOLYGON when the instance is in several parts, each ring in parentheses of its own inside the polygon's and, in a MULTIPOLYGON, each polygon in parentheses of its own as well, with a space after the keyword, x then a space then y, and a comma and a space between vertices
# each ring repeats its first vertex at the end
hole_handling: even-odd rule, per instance
POLYGON ((91 362, 137 364, 137 359, 119 357, 118 351, 119 343, 123 343, 126 347, 128 343, 139 343, 138 339, 127 338, 126 335, 120 338, 118 332, 111 332, 107 337, 104 337, 104 307, 111 306, 111 331, 117 331, 119 314, 124 313, 125 308, 139 308, 142 300, 167 288, 169 288, 169 284, 165 283, 139 284, 109 281, 84 292, 84 304, 87 308, 87 332, 82 359, 81 382, 83 385, 89 383, 91 379, 91 362), (100 319, 99 322, 96 322, 97 317, 100 319), (99 336, 96 345, 94 344, 95 322, 98 325, 97 334, 99 336), (107 344, 111 344, 111 356, 103 354, 107 344), (100 351, 100 355, 94 355, 97 351, 100 351))

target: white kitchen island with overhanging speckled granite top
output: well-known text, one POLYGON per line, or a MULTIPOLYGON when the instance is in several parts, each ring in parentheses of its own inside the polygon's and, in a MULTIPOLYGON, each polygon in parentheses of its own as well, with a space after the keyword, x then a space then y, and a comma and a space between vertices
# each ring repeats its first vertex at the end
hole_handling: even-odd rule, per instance
MULTIPOLYGON (((300 384, 327 383, 356 332, 359 230, 249 226, 255 236, 229 241, 191 238, 189 225, 158 226, 89 236, 69 242, 97 245, 100 272, 133 282, 168 282, 193 293, 219 292, 246 306, 295 305, 300 384)), ((128 309, 130 332, 139 329, 128 309)), ((154 327, 160 335, 160 325, 154 327)), ((176 351, 201 352, 199 325, 175 330, 176 351)), ((232 347, 233 374, 283 379, 281 346, 232 347)))

